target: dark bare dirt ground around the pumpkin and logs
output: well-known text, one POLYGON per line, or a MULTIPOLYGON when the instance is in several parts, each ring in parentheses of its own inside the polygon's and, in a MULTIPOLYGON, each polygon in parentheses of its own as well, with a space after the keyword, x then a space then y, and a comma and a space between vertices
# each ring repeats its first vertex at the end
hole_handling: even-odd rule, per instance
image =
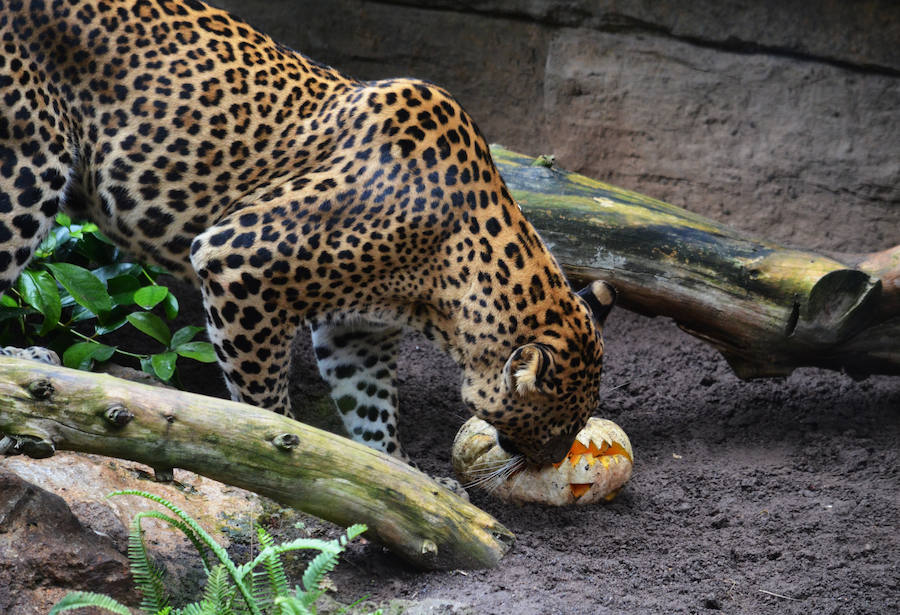
MULTIPOLYGON (((519 508, 473 493, 518 537, 498 568, 422 573, 357 545, 333 575, 339 597, 453 614, 900 612, 900 379, 742 382, 671 322, 625 311, 605 337, 602 414, 636 457, 615 501, 519 508)), ((298 346, 297 373, 315 374, 298 346)), ((449 475, 458 371, 412 336, 400 372, 406 446, 449 475)), ((317 376, 296 387, 325 392, 317 376)))

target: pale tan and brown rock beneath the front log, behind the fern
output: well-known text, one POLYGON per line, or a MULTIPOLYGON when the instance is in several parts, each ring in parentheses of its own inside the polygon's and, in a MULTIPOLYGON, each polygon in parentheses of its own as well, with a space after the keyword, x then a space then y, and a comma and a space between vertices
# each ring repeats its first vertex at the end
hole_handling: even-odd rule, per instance
MULTIPOLYGON (((262 504, 255 494, 178 468, 173 482, 157 483, 152 481, 153 471, 149 467, 99 455, 61 451, 41 460, 10 457, 2 464, 0 613, 4 615, 46 613, 68 591, 76 589, 109 594, 117 599, 121 595, 134 601, 126 557, 128 528, 138 512, 161 510, 161 507, 137 496, 107 498, 113 491, 137 489, 161 496, 193 517, 216 542, 226 547, 233 532, 246 533, 252 519, 262 512, 262 504), (23 487, 5 486, 4 477, 10 485, 23 487), (4 511, 18 511, 22 506, 19 502, 27 500, 26 495, 16 495, 20 492, 42 494, 28 510, 37 511, 34 515, 54 515, 54 520, 41 521, 43 525, 37 526, 46 527, 45 530, 35 531, 26 525, 18 534, 10 534, 4 529, 4 518, 9 516, 4 511), (41 513, 45 508, 48 512, 41 513), (62 520, 55 520, 57 517, 62 520), (27 560, 18 559, 24 553, 23 544, 31 549, 27 560), (74 552, 63 551, 64 556, 60 557, 63 547, 59 545, 74 552), (94 555, 94 550, 100 555, 94 555), (86 559, 82 562, 79 557, 86 559), (114 563, 119 568, 114 568, 114 563), (58 567, 61 572, 47 576, 48 570, 58 567), (110 572, 104 577, 107 569, 110 572), (8 591, 4 583, 8 584, 8 591), (3 596, 12 596, 6 599, 8 605, 4 604, 3 596)), ((30 517, 25 519, 23 523, 31 523, 30 517)), ((152 557, 166 569, 167 587, 173 599, 177 603, 196 599, 204 577, 193 545, 180 531, 162 521, 144 519, 141 527, 152 557)))

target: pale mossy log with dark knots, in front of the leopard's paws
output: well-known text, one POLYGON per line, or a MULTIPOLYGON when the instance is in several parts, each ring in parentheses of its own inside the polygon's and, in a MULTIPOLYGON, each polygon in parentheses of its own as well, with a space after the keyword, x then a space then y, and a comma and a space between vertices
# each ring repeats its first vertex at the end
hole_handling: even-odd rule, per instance
POLYGON ((366 536, 422 568, 495 566, 514 537, 388 455, 246 404, 0 357, 0 454, 183 468, 366 536), (4 438, 3 434, 6 434, 4 438))

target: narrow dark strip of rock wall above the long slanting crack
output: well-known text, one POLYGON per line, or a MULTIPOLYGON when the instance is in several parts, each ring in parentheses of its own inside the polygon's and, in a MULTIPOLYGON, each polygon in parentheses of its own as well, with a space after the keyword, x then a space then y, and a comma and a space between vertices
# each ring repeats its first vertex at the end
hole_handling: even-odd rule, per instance
POLYGON ((393 0, 548 26, 655 31, 736 51, 769 51, 900 70, 900 5, 890 0, 393 0), (815 10, 811 10, 814 7, 815 10))

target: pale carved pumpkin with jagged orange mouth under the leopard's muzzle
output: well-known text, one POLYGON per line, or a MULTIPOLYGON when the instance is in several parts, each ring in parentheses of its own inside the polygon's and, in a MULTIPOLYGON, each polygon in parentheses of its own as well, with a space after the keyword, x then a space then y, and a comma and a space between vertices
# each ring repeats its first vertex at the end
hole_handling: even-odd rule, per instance
POLYGON ((590 419, 566 457, 542 467, 527 466, 500 448, 494 428, 477 418, 463 425, 453 443, 453 467, 464 485, 514 502, 609 501, 631 477, 632 461, 628 436, 605 419, 590 419))

